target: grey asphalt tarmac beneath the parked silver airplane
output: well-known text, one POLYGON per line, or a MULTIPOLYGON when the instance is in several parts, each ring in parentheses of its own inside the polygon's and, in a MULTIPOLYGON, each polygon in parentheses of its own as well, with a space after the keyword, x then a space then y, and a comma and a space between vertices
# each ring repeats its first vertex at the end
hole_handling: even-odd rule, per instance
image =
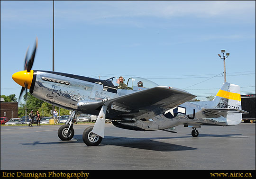
MULTIPOLYGON (((93 124, 91 124, 93 125, 93 124)), ((202 126, 199 136, 131 131, 106 124, 105 137, 89 147, 74 125, 74 137, 61 141, 60 125, 1 126, 1 170, 255 170, 255 123, 202 126)))

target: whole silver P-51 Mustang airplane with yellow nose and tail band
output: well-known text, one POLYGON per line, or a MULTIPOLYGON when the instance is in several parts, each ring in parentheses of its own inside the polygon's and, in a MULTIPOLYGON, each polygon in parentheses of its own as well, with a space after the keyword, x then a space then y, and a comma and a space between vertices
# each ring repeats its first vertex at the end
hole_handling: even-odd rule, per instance
POLYGON ((201 125, 238 125, 241 122, 240 88, 225 82, 212 101, 188 102, 196 96, 191 93, 158 84, 139 77, 127 81, 127 89, 116 86, 116 77, 98 80, 62 72, 31 70, 37 50, 37 40, 30 57, 25 56, 24 71, 16 72, 12 79, 43 101, 72 110, 65 125, 58 130, 61 140, 74 135, 73 117, 76 112, 98 116, 95 125, 82 134, 88 146, 101 143, 104 138, 105 119, 130 130, 164 130, 176 133, 175 126, 192 127, 197 137, 201 125))

